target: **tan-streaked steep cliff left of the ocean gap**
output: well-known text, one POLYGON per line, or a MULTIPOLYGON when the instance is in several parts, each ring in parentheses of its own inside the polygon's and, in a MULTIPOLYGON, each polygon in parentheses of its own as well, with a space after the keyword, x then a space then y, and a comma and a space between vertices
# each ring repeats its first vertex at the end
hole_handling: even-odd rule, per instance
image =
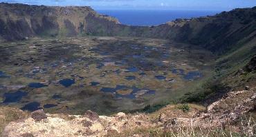
MULTIPOLYGON (((87 19, 101 25, 118 24, 117 19, 97 14, 90 7, 46 7, 0 3, 0 35, 8 41, 33 36, 77 36, 94 32, 87 19)), ((89 21, 90 22, 90 21, 89 21)))

